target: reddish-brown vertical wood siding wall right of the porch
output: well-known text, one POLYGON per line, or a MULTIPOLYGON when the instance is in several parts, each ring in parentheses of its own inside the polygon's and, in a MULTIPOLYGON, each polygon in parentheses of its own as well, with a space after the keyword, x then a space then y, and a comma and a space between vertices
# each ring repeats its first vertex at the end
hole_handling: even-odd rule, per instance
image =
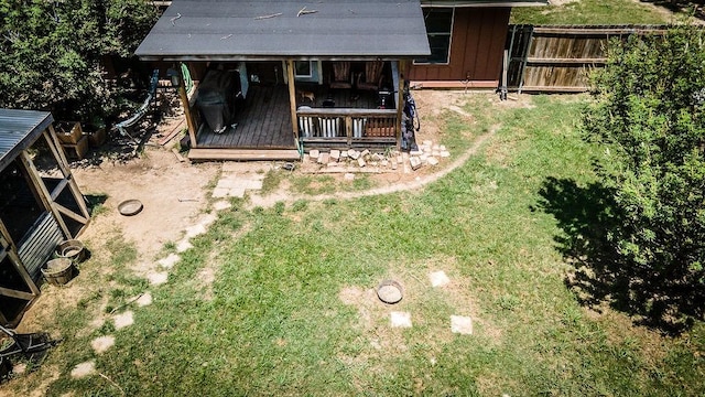
POLYGON ((511 8, 456 8, 447 65, 411 66, 413 82, 491 82, 502 68, 511 8))

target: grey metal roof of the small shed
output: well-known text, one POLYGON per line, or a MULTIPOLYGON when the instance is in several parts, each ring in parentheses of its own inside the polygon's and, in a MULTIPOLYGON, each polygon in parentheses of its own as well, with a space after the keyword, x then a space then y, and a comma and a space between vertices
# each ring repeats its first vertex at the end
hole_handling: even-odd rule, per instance
POLYGON ((29 148, 52 122, 47 111, 0 109, 0 171, 29 148))

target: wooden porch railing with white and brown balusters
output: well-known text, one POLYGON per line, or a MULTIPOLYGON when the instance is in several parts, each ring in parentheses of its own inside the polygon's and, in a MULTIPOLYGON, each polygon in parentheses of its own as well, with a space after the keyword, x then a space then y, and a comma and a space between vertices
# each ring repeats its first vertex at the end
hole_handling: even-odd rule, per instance
POLYGON ((296 118, 304 143, 397 143, 395 109, 299 109, 296 118))

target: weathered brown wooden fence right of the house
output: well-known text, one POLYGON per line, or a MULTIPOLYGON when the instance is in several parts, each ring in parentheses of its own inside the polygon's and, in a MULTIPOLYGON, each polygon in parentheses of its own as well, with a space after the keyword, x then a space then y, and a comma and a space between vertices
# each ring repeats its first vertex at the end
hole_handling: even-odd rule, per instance
POLYGON ((661 25, 509 25, 507 87, 518 92, 579 93, 604 67, 611 39, 659 34, 661 25))

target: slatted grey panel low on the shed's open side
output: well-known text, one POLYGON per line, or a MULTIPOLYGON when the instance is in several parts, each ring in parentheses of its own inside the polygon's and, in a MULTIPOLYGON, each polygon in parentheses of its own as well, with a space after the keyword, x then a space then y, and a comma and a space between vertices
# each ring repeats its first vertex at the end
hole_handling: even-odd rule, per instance
POLYGON ((40 279, 42 266, 52 257, 64 234, 51 213, 39 217, 32 232, 20 243, 18 256, 34 281, 40 279))

